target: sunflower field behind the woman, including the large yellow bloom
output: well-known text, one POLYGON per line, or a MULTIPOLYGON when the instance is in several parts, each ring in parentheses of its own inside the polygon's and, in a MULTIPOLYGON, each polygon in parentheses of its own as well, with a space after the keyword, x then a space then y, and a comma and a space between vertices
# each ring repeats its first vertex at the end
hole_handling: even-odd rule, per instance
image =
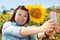
MULTIPOLYGON (((28 26, 41 26, 44 22, 50 19, 49 11, 46 8, 42 7, 42 5, 26 5, 25 8, 29 10, 30 22, 27 24, 28 26)), ((2 26, 4 22, 9 21, 12 14, 0 14, 0 40, 2 38, 2 26)), ((60 12, 57 12, 58 23, 60 24, 60 12)), ((60 33, 56 33, 51 37, 54 40, 60 40, 60 33)), ((45 38, 43 40, 48 40, 45 38)))

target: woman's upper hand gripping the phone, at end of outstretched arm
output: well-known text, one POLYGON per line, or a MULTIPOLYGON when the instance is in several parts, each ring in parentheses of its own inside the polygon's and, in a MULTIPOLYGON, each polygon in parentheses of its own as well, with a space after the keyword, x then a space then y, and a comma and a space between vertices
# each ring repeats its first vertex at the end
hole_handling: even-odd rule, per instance
POLYGON ((57 26, 54 24, 52 19, 48 20, 41 26, 41 30, 44 32, 53 32, 56 30, 57 26))

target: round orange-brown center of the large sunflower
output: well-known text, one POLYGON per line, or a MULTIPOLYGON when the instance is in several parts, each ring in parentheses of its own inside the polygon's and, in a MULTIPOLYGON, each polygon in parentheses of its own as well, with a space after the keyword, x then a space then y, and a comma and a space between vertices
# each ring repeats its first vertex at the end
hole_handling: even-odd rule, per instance
POLYGON ((42 16, 41 10, 39 8, 32 8, 30 10, 30 14, 36 19, 39 19, 42 16))

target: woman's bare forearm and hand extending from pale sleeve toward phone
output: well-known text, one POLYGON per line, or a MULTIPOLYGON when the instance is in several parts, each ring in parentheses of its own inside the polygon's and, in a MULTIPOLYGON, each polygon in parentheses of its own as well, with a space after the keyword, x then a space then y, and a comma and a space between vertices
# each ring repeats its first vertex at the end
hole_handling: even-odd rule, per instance
POLYGON ((53 20, 48 20, 41 27, 21 27, 20 35, 27 36, 31 34, 38 34, 40 32, 49 32, 53 31, 54 25, 53 20))

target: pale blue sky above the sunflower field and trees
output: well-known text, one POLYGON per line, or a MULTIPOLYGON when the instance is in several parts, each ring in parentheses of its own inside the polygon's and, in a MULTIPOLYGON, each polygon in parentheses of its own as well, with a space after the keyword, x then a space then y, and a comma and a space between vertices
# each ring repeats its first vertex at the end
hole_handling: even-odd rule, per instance
POLYGON ((0 0, 0 8, 16 8, 19 5, 42 4, 43 7, 60 6, 60 0, 0 0))

